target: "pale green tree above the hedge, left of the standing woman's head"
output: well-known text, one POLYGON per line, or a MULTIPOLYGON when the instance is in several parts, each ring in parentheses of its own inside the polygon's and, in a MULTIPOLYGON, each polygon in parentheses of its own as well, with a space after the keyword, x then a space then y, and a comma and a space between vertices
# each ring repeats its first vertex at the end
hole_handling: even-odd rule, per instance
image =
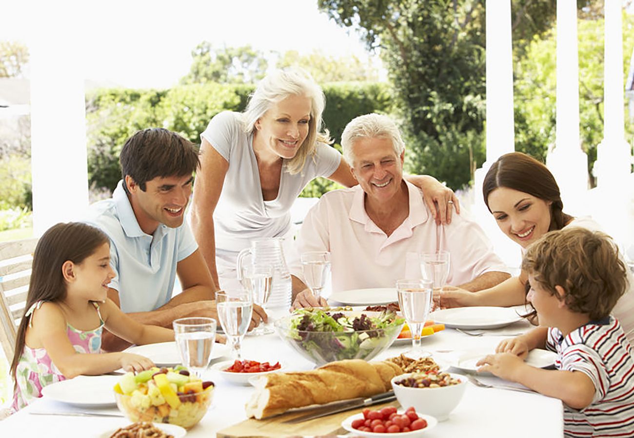
POLYGON ((191 51, 190 72, 183 84, 252 84, 264 77, 267 61, 261 51, 251 46, 214 48, 203 41, 191 51))

